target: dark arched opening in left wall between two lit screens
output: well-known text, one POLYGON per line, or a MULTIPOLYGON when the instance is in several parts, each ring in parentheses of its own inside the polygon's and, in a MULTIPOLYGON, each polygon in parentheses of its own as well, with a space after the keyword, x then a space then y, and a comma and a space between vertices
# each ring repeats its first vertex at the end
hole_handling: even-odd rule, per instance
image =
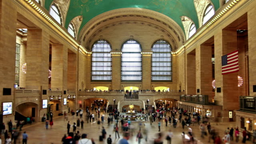
POLYGON ((35 122, 39 122, 38 118, 38 104, 34 102, 25 102, 16 106, 15 110, 15 120, 24 120, 26 122, 26 118, 34 118, 35 122))

